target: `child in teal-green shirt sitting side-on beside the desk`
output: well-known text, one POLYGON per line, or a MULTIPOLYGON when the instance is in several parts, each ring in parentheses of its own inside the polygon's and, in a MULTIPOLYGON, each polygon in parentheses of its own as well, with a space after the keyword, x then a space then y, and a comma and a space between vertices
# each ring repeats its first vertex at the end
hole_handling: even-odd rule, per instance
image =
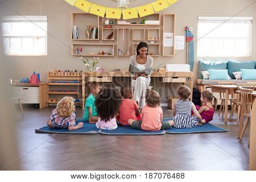
POLYGON ((101 82, 90 82, 89 85, 90 95, 86 98, 84 118, 83 120, 89 121, 89 123, 96 123, 98 121, 96 106, 94 104, 96 95, 101 91, 101 82))

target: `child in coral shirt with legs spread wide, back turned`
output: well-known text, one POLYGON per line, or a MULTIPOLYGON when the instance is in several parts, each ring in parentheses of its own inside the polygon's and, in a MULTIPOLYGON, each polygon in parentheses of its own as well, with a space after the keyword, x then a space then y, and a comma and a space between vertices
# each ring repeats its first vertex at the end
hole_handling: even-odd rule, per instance
POLYGON ((145 130, 145 131, 159 131, 169 129, 174 125, 173 121, 163 121, 163 109, 160 107, 159 93, 154 90, 148 90, 146 92, 146 105, 142 107, 142 120, 134 121, 129 119, 130 126, 145 130))

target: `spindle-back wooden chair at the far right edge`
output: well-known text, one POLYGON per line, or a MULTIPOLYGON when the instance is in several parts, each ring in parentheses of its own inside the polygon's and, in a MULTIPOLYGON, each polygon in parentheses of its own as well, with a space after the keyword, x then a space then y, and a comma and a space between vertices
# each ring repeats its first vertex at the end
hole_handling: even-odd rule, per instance
MULTIPOLYGON (((251 119, 251 106, 253 105, 253 89, 244 89, 240 88, 241 91, 241 98, 242 98, 242 107, 243 107, 243 116, 245 119, 245 125, 243 125, 242 133, 239 138, 239 142, 241 142, 243 134, 245 133, 246 127, 251 119)), ((241 117, 243 117, 241 115, 241 117)), ((250 139, 249 139, 250 141, 250 139)), ((248 146, 250 145, 250 142, 248 142, 248 146)))

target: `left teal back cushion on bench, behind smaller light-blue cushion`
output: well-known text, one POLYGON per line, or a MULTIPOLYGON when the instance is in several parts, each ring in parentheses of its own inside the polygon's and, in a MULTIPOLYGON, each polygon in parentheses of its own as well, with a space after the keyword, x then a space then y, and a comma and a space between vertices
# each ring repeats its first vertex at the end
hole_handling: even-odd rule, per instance
POLYGON ((228 61, 202 61, 199 60, 198 78, 203 79, 201 72, 208 71, 208 69, 227 69, 228 61))

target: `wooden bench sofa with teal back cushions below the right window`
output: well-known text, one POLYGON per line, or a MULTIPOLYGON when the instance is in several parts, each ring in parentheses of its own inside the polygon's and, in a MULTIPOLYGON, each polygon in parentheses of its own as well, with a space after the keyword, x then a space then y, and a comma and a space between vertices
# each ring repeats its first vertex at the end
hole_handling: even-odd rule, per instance
POLYGON ((234 82, 234 84, 246 84, 247 82, 256 82, 256 79, 237 80, 234 77, 234 72, 240 72, 241 69, 255 69, 255 61, 245 61, 245 62, 236 62, 236 61, 203 61, 199 60, 199 73, 198 78, 196 79, 197 89, 200 92, 207 88, 207 85, 218 84, 218 82, 234 82), (202 71, 208 71, 210 69, 214 70, 228 70, 228 75, 231 79, 229 80, 216 80, 216 79, 204 79, 202 71))

